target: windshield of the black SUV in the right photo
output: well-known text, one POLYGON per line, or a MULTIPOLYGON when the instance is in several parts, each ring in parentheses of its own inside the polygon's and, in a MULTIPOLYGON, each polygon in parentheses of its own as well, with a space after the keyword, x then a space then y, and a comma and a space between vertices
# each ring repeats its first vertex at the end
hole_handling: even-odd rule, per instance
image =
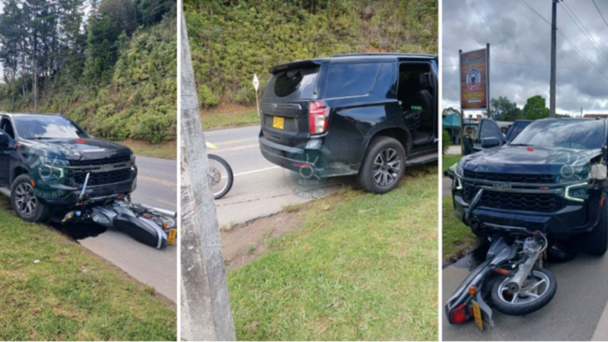
POLYGON ((545 148, 601 148, 604 137, 603 120, 539 120, 524 128, 510 145, 545 148))

